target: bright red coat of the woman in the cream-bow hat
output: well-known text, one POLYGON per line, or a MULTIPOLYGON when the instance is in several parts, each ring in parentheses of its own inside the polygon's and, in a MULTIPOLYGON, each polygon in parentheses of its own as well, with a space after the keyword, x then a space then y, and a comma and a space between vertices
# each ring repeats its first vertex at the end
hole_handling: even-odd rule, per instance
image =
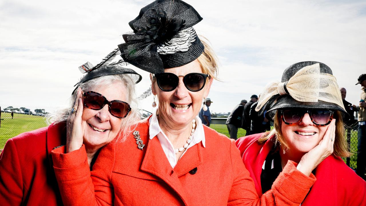
MULTIPOLYGON (((262 195, 262 165, 273 146, 272 141, 258 143, 255 134, 236 140, 243 162, 253 178, 255 189, 262 195)), ((340 157, 330 155, 315 169, 315 181, 301 206, 365 206, 366 182, 350 169, 340 157)))

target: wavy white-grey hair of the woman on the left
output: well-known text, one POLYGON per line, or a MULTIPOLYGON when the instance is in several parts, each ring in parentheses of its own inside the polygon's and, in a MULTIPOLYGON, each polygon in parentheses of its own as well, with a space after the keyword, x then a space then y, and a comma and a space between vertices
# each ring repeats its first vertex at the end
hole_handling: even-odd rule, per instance
MULTIPOLYGON (((107 87, 113 83, 121 83, 126 87, 126 102, 130 104, 131 111, 128 113, 127 117, 123 118, 120 124, 120 132, 117 135, 117 141, 126 140, 127 136, 134 130, 137 126, 137 122, 140 120, 140 112, 137 100, 135 96, 135 81, 128 74, 115 74, 97 77, 84 82, 79 85, 83 92, 92 91, 95 88, 107 87)), ((49 113, 46 116, 46 121, 48 124, 57 124, 60 122, 66 122, 68 116, 71 113, 72 107, 75 105, 77 92, 75 91, 70 97, 69 105, 66 108, 55 111, 54 113, 49 113)))

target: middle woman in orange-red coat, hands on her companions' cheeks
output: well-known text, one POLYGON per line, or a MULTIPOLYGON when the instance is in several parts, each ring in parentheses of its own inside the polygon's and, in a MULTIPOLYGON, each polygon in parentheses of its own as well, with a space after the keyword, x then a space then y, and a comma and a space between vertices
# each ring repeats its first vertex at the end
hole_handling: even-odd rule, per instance
POLYGON ((124 35, 119 48, 124 60, 152 73, 157 112, 126 141, 102 148, 91 172, 75 117, 68 153, 52 151, 66 205, 298 206, 305 198, 314 182, 311 170, 330 154, 331 143, 304 157, 303 165, 288 162, 259 198, 234 140, 197 117, 217 74, 216 56, 192 28, 201 19, 183 1, 157 0, 130 22, 134 33, 124 35))

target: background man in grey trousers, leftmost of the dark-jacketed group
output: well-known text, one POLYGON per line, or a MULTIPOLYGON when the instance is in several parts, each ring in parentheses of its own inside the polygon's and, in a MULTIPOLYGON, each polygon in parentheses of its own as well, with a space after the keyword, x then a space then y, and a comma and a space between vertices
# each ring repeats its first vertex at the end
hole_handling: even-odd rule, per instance
POLYGON ((238 135, 238 128, 242 127, 243 125, 243 109, 244 105, 247 102, 247 100, 243 99, 240 104, 234 107, 226 120, 226 126, 228 128, 231 139, 236 140, 238 135))

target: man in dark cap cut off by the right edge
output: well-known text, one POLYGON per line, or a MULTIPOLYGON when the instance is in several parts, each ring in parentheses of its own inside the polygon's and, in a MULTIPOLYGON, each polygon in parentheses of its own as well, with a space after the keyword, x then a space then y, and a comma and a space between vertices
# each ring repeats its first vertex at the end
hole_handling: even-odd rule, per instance
POLYGON ((361 100, 358 111, 358 144, 357 144, 357 170, 356 173, 366 180, 366 74, 358 77, 357 84, 361 84, 361 100))

